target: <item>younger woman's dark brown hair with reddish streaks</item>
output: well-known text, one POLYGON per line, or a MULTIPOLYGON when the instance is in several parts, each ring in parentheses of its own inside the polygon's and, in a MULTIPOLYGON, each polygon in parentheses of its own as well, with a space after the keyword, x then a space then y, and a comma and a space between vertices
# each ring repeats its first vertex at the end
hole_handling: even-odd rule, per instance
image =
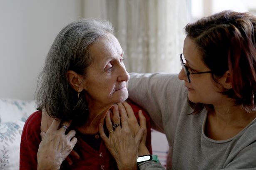
MULTIPOLYGON (((218 78, 230 71, 232 89, 226 89, 223 94, 234 99, 235 105, 253 111, 256 107, 256 16, 223 11, 189 23, 185 33, 196 43, 214 81, 218 82, 218 78)), ((193 113, 204 107, 213 108, 190 103, 193 113)))

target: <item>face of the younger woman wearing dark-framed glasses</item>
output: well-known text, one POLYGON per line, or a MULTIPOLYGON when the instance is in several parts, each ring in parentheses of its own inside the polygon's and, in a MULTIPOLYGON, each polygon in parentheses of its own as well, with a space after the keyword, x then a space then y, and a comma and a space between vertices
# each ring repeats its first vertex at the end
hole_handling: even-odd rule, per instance
MULTIPOLYGON (((184 40, 183 54, 186 59, 186 67, 190 73, 210 71, 201 59, 201 54, 192 39, 186 37, 184 40)), ((221 101, 223 95, 219 93, 219 88, 213 80, 211 73, 190 74, 189 83, 186 73, 182 68, 179 72, 179 79, 184 80, 188 90, 188 98, 194 103, 216 104, 221 101)))

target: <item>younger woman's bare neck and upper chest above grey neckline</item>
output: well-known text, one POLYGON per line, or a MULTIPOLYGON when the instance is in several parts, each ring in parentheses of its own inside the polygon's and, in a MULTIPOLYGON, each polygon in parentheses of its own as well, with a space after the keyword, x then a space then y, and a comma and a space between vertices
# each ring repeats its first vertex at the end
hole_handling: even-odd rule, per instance
POLYGON ((222 102, 209 111, 205 133, 214 140, 226 140, 236 136, 255 118, 256 112, 249 113, 232 102, 222 102))

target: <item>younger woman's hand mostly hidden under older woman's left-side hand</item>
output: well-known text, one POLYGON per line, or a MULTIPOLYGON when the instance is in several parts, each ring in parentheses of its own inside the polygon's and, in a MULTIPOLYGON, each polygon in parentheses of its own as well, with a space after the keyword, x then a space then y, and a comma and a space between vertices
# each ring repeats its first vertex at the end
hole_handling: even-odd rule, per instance
MULTIPOLYGON (((47 114, 46 110, 43 108, 43 109, 42 109, 41 127, 40 127, 40 128, 41 128, 41 132, 46 132, 47 129, 51 126, 53 120, 54 120, 54 118, 50 117, 50 116, 47 114)), ((73 164, 73 161, 72 161, 71 157, 72 157, 72 158, 76 158, 76 159, 79 159, 79 158, 80 158, 80 156, 78 155, 78 153, 75 152, 74 150, 72 150, 72 151, 70 152, 70 155, 68 155, 67 158, 66 158, 67 163, 68 163, 69 165, 72 165, 72 164, 73 164)))

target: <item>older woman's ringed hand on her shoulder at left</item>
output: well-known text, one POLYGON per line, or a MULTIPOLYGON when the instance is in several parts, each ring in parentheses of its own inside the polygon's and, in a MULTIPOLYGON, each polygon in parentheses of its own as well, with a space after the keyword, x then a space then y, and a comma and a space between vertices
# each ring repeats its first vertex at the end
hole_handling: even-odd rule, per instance
MULTIPOLYGON (((63 124, 70 126, 70 122, 63 124)), ((59 170, 60 165, 77 143, 74 130, 66 135, 66 129, 59 126, 60 121, 53 120, 47 132, 41 132, 42 141, 37 151, 37 170, 59 170)))

